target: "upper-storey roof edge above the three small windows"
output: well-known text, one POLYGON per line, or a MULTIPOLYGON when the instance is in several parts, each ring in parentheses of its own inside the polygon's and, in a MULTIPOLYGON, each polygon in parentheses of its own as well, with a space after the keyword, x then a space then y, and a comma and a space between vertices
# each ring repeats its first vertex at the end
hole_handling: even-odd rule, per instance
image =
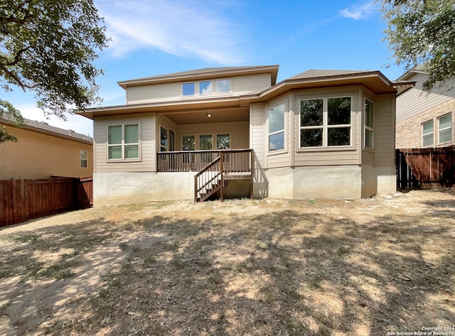
POLYGON ((165 75, 142 77, 135 80, 123 80, 117 82, 124 89, 130 86, 159 84, 164 82, 175 82, 176 80, 203 79, 209 77, 253 75, 257 73, 270 73, 272 85, 277 82, 279 65, 253 65, 244 67, 205 67, 203 69, 173 72, 165 75))

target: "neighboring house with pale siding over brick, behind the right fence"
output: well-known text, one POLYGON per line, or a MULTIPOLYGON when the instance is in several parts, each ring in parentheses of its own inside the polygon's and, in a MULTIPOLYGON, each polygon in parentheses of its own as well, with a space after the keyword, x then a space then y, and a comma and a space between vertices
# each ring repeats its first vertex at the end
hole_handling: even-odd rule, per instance
POLYGON ((423 67, 402 75, 398 80, 413 81, 415 87, 397 96, 396 148, 441 147, 455 144, 455 78, 431 93, 424 92, 428 74, 423 67))

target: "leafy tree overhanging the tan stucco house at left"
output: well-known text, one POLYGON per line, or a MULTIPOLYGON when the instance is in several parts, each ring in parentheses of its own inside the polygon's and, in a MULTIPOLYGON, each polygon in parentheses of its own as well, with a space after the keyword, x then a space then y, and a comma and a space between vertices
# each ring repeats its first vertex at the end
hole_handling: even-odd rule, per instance
MULTIPOLYGON (((102 70, 93 62, 108 41, 92 0, 1 0, 0 87, 31 90, 45 114, 65 119, 100 101, 95 80, 102 70)), ((0 116, 21 124, 4 99, 0 116)), ((0 142, 12 139, 5 132, 0 128, 0 142)))

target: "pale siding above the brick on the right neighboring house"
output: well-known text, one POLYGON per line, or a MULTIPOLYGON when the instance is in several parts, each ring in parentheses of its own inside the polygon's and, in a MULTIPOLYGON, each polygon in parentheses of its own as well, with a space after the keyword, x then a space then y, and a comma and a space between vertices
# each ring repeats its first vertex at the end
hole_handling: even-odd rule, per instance
POLYGON ((415 87, 397 97, 397 122, 455 98, 455 78, 448 80, 443 87, 434 88, 431 94, 425 93, 422 89, 423 82, 427 78, 428 75, 416 73, 408 79, 417 81, 417 83, 415 87))

